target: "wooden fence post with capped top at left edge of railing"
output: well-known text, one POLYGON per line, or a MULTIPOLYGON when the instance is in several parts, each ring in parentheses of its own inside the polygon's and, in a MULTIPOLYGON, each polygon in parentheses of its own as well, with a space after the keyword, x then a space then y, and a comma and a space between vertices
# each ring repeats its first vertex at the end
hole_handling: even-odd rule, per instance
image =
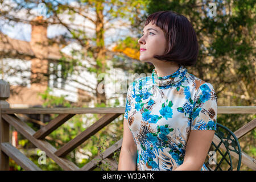
POLYGON ((2 109, 9 108, 10 105, 5 100, 10 97, 10 86, 4 81, 0 80, 0 170, 9 171, 9 156, 7 156, 1 149, 1 143, 10 142, 10 125, 2 119, 2 109))

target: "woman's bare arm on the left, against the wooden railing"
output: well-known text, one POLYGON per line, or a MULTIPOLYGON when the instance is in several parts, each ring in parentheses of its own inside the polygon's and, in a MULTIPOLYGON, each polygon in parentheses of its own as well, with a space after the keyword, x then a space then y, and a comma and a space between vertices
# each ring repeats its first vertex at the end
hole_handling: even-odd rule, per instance
POLYGON ((137 162, 137 146, 129 130, 127 119, 123 119, 123 142, 119 155, 118 171, 135 171, 137 162))

